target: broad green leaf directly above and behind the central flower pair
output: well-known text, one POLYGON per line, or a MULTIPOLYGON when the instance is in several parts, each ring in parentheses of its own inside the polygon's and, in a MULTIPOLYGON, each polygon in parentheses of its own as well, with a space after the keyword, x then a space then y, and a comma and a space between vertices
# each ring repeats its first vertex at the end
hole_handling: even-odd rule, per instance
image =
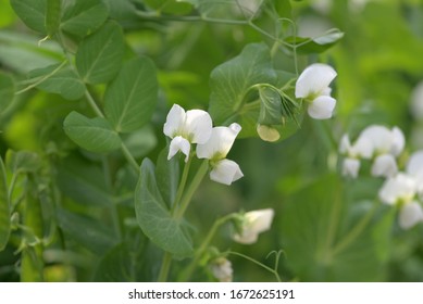
POLYGON ((216 125, 227 121, 239 121, 242 130, 240 136, 256 134, 259 107, 242 110, 246 97, 253 85, 276 81, 272 68, 270 50, 264 43, 252 43, 242 52, 217 66, 211 73, 209 112, 216 125), (239 116, 239 117, 238 117, 239 116))

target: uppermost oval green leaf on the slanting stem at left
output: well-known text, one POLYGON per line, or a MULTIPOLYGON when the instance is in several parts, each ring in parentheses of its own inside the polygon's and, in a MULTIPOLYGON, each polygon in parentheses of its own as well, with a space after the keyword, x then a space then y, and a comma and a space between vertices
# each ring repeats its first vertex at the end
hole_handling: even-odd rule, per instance
POLYGON ((88 84, 108 83, 119 72, 124 50, 122 28, 110 21, 83 39, 76 52, 76 68, 88 84))

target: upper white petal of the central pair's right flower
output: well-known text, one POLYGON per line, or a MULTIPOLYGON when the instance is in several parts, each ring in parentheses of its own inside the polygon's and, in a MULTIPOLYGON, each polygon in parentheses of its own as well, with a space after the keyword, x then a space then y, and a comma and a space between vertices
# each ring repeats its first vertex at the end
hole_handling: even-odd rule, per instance
POLYGON ((214 127, 209 140, 203 144, 197 144, 197 156, 209 160, 225 159, 240 130, 241 127, 236 123, 229 127, 214 127))

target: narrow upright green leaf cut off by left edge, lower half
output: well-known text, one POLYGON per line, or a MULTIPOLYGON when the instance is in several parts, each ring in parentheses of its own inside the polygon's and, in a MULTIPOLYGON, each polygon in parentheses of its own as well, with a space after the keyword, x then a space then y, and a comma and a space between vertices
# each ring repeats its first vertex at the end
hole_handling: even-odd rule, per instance
POLYGON ((9 188, 7 182, 5 168, 3 160, 0 157, 0 251, 2 251, 9 241, 10 236, 10 202, 9 188))

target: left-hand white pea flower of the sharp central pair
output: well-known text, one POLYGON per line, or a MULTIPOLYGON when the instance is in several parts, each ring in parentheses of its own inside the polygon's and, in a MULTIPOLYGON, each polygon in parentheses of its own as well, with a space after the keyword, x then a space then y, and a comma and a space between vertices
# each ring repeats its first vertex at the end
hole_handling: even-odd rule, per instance
POLYGON ((164 135, 172 138, 167 160, 171 160, 178 151, 185 154, 185 162, 191 149, 191 143, 204 143, 212 131, 212 119, 206 111, 185 110, 174 104, 167 114, 163 126, 164 135))

